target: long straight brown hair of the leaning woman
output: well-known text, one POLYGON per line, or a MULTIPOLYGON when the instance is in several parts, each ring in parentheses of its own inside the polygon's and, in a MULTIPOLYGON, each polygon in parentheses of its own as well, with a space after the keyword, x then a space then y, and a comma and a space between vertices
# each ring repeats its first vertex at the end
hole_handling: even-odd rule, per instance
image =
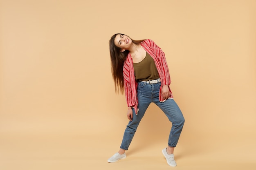
MULTIPOLYGON (((124 66, 124 61, 126 60, 127 55, 130 51, 125 50, 124 52, 121 52, 121 48, 119 48, 114 44, 114 40, 118 34, 121 34, 121 33, 117 33, 113 35, 109 40, 109 51, 110 51, 110 59, 111 59, 112 77, 115 82, 115 91, 116 93, 119 93, 119 90, 120 90, 122 94, 124 93, 123 66, 124 66)), ((121 35, 125 35, 125 34, 121 34, 121 35)), ((132 42, 137 45, 143 41, 144 40, 132 40, 132 42)))

